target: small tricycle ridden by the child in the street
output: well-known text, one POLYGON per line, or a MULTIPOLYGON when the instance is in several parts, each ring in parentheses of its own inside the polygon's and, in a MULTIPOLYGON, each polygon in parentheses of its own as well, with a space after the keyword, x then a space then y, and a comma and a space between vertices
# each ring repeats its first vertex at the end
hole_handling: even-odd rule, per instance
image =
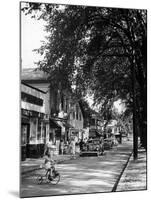
POLYGON ((40 167, 41 169, 44 169, 46 173, 44 175, 37 175, 36 177, 36 182, 38 184, 42 184, 44 181, 47 183, 51 183, 52 185, 56 185, 60 181, 60 174, 59 172, 55 169, 55 163, 51 165, 51 168, 45 169, 44 167, 40 167), (52 170, 52 172, 51 172, 52 170))

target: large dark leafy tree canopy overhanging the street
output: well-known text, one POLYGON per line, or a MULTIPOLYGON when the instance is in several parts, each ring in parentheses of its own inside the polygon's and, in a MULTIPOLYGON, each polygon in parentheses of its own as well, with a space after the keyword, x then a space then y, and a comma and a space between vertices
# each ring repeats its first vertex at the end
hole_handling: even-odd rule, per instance
POLYGON ((37 50, 44 60, 37 64, 50 74, 51 84, 82 96, 91 91, 102 110, 125 100, 147 148, 146 10, 35 3, 23 10, 31 13, 35 7, 49 33, 37 50))

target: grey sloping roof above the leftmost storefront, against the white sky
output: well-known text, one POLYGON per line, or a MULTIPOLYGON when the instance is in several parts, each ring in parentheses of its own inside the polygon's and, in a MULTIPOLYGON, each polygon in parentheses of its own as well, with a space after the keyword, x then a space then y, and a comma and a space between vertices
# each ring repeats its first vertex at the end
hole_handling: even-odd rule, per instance
POLYGON ((21 71, 21 80, 48 81, 48 74, 38 68, 24 68, 21 71))

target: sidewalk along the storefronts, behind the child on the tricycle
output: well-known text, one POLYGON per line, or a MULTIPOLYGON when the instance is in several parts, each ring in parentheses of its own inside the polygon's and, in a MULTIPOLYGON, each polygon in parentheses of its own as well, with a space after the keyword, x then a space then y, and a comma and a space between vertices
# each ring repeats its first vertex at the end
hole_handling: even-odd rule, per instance
MULTIPOLYGON (((75 155, 75 158, 78 157, 78 155, 75 155)), ((73 157, 71 155, 55 155, 54 156, 54 160, 56 160, 56 162, 62 163, 66 160, 70 160, 73 159, 73 157)), ((32 172, 34 170, 37 170, 40 168, 40 165, 44 163, 44 159, 43 158, 38 158, 38 159, 34 159, 34 158, 27 158, 25 161, 21 161, 21 174, 24 175, 28 172, 32 172)))

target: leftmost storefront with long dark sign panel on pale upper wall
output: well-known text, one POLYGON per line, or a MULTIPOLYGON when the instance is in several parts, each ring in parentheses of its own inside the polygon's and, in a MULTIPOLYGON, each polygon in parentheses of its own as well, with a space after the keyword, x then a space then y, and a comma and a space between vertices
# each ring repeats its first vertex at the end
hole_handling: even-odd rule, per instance
POLYGON ((21 85, 21 160, 43 155, 49 134, 45 114, 45 93, 27 84, 21 85))

